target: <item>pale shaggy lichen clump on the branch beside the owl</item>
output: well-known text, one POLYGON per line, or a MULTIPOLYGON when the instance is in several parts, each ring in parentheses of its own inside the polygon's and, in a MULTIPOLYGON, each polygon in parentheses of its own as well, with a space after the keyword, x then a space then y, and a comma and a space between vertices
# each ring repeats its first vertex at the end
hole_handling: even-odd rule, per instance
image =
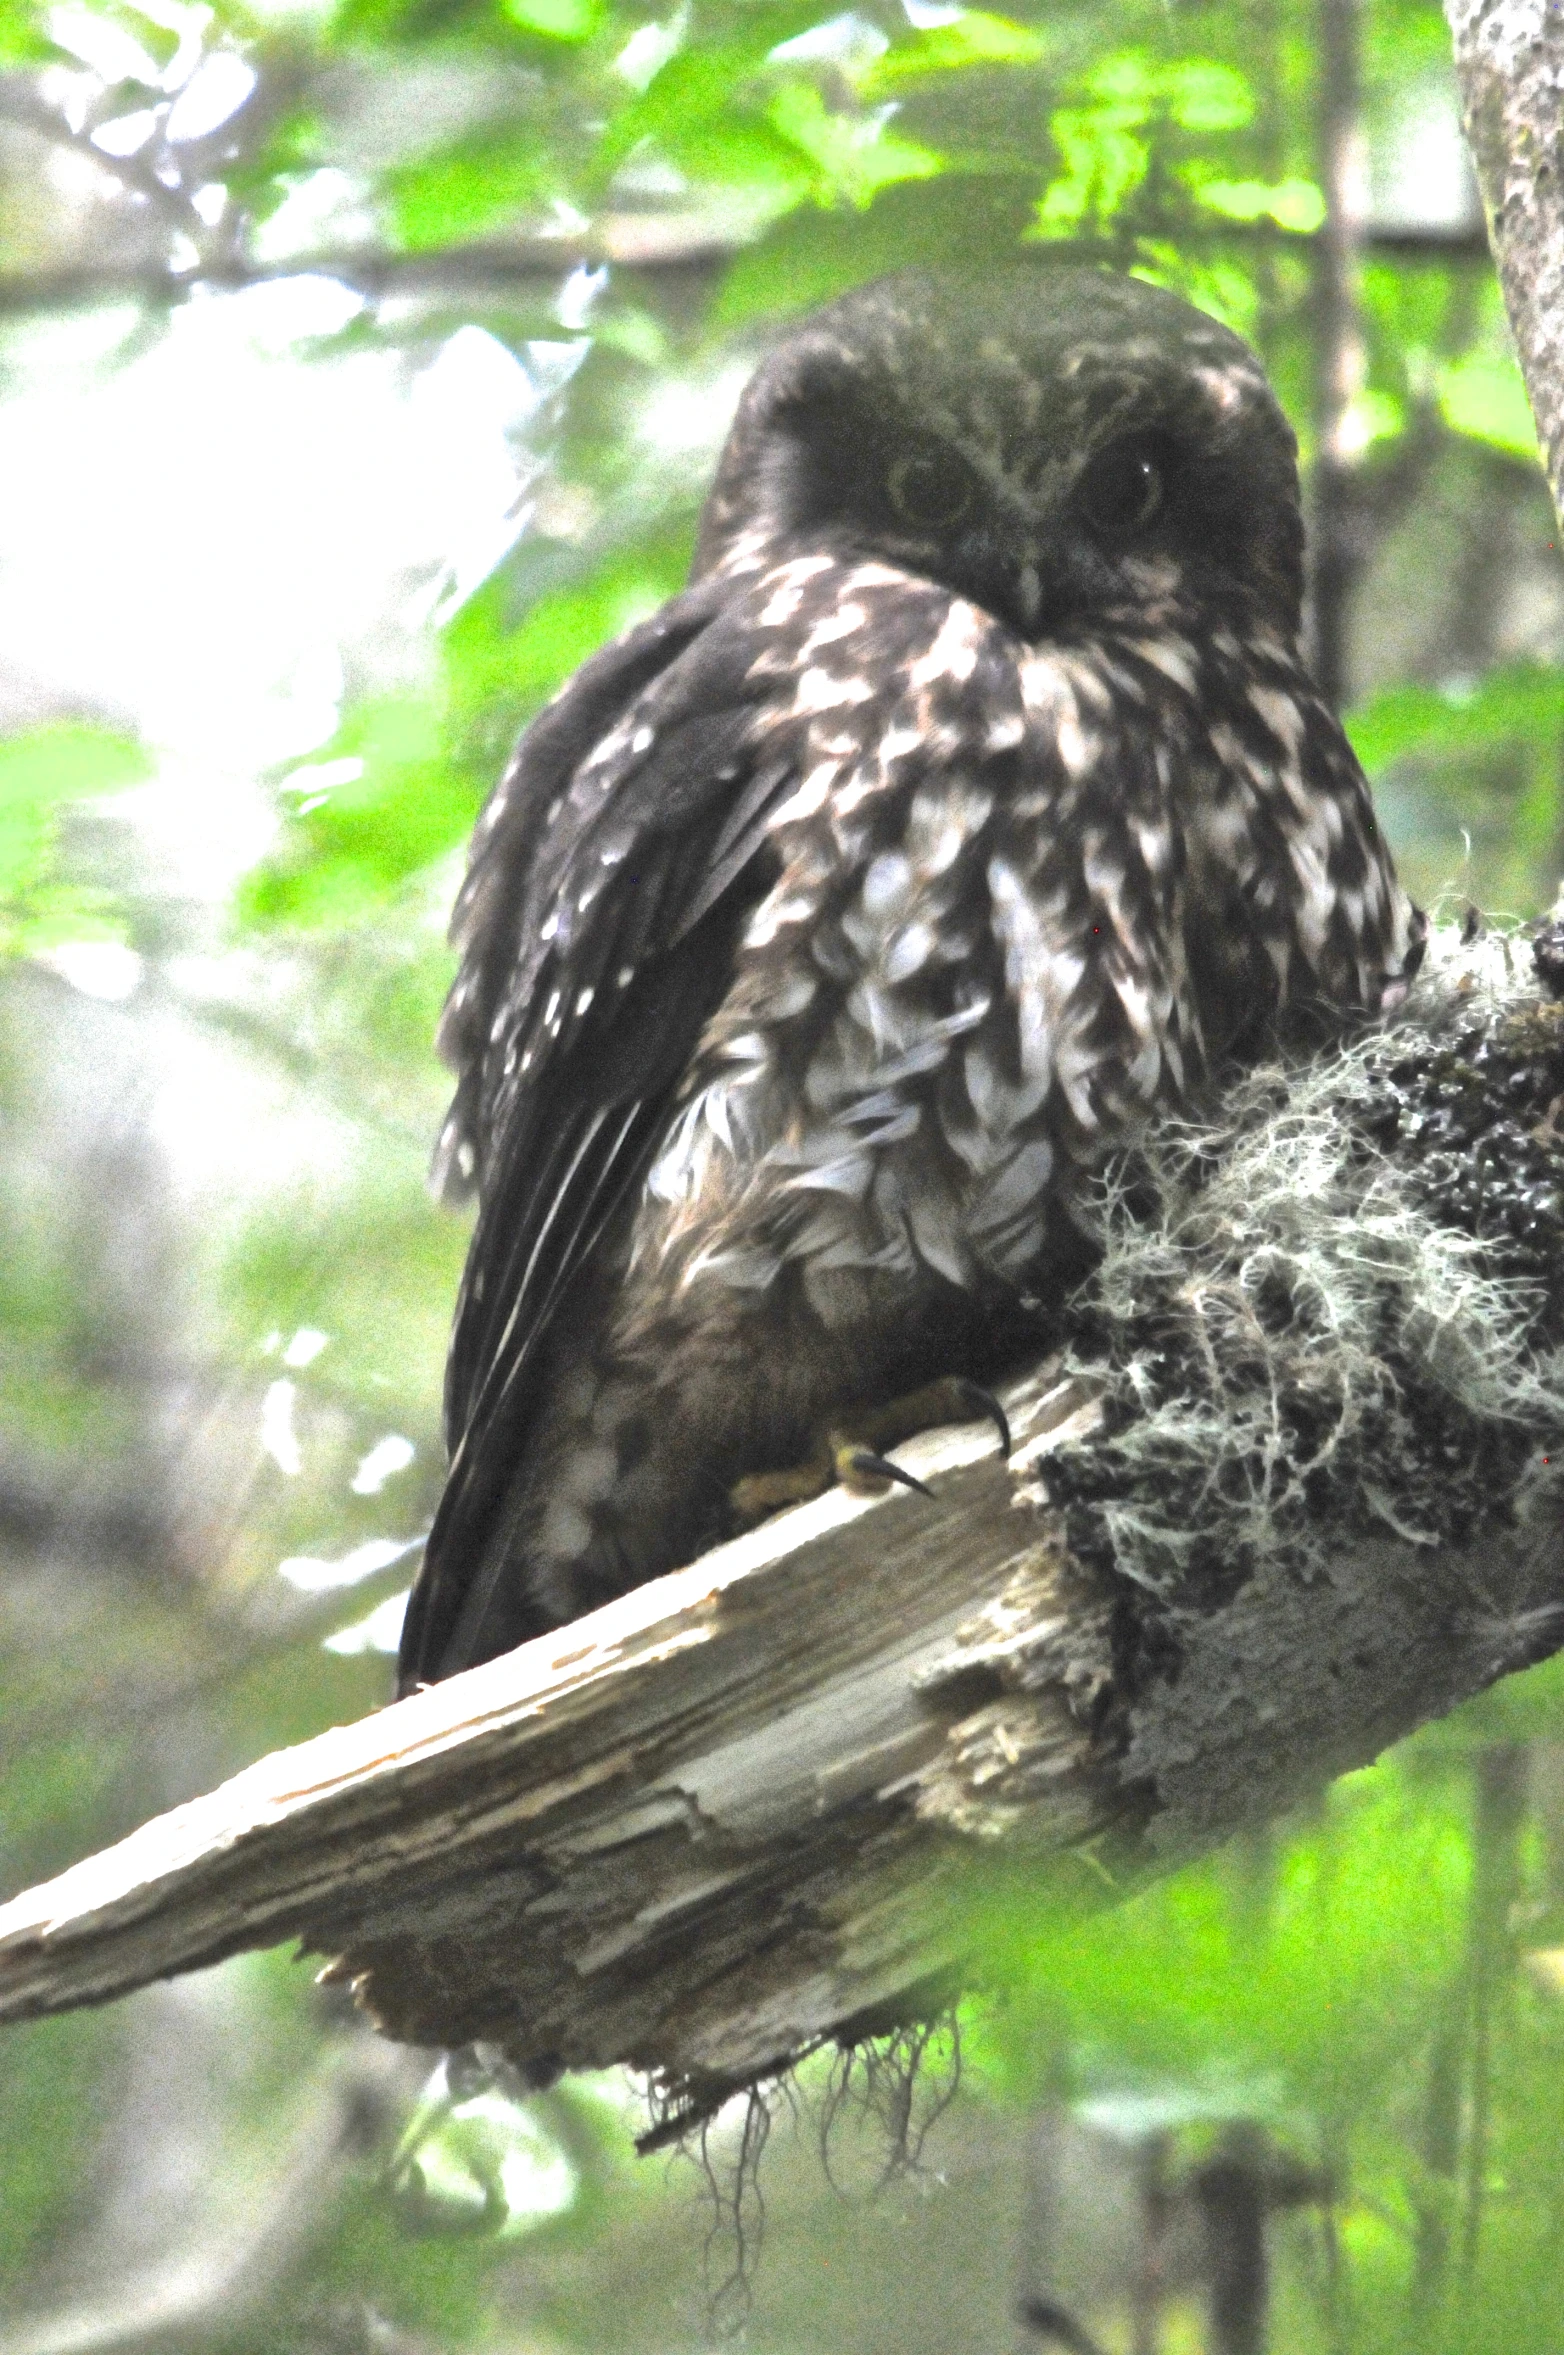
POLYGON ((1406 1013, 1164 1123, 1100 1189, 1072 1356, 1109 1437, 1069 1543, 1159 1594, 1352 1531, 1465 1543, 1564 1444, 1564 1006, 1531 944, 1439 933, 1406 1013))

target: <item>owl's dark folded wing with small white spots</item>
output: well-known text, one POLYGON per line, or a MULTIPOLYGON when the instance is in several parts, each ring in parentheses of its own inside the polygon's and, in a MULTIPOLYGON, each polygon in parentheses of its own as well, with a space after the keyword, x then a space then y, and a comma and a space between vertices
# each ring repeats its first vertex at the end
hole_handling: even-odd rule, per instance
POLYGON ((478 827, 440 1029, 459 1081, 436 1173, 476 1180, 481 1213, 403 1689, 440 1667, 516 1465, 539 1342, 664 1128, 737 923, 770 878, 766 822, 794 777, 796 730, 777 725, 744 619, 730 584, 702 584, 586 662, 478 827))

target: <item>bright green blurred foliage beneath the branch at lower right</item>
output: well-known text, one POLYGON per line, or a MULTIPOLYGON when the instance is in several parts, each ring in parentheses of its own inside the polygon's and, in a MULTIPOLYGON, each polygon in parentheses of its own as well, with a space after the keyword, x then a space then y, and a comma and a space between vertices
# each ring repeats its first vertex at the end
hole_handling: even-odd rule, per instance
POLYGON ((1314 2263, 1284 2284, 1288 2355, 1555 2346, 1564 2004, 1515 1964, 1564 1933, 1564 1886, 1536 1823, 1493 1853, 1472 1787, 1505 1745, 1557 1743, 1562 1700, 1552 1660, 1343 1778, 1312 1823, 1088 1924, 987 1898, 1006 1999, 973 2021, 980 2065, 1194 2150, 1263 2122, 1328 2185, 1336 2249, 1319 2216, 1295 2233, 1314 2263))

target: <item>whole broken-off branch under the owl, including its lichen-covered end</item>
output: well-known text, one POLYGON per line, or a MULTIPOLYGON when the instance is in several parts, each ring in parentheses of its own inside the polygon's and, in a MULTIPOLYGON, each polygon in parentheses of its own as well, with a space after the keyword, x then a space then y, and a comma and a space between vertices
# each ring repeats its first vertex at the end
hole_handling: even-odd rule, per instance
MULTIPOLYGON (((1006 1394, 1008 1465, 987 1425, 926 1434, 902 1460, 933 1498, 831 1491, 502 1660, 261 1759, 2 1908, 0 2018, 299 1938, 396 2037, 492 2042, 539 2082, 631 2063, 690 2117, 978 1978, 975 1872, 1105 1903, 1557 1648, 1564 1505, 1538 1460, 1555 1446, 1564 1460, 1564 1371, 1538 1267, 1552 1253, 1564 1279, 1564 1192, 1552 1241, 1533 1229, 1555 1154, 1564 1187, 1564 1006, 1505 980, 1503 961, 1519 963, 1507 949, 1470 958, 1442 968, 1432 1013, 1357 1060, 1251 1083, 1248 1112, 1218 1137, 1230 1159, 1234 1135, 1251 1154, 1237 1192, 1199 1178, 1145 1262, 1121 1222, 1081 1295, 1074 1368, 1051 1359, 1006 1394), (1460 1149, 1451 1102, 1465 1107, 1460 1149), (1281 1227, 1260 1206, 1234 1243, 1272 1130, 1288 1140, 1281 1227), (1295 1180, 1317 1168, 1298 1156, 1310 1140, 1336 1156, 1328 1185, 1319 1170, 1295 1180), (1500 1149, 1531 1156, 1512 1196, 1500 1149), (1449 1185, 1465 1201, 1472 1168, 1496 1241, 1460 1241, 1456 1288, 1418 1319, 1416 1251, 1446 1234, 1444 1196, 1430 1210, 1425 1194, 1449 1185), (1336 1187, 1328 1218, 1310 1185, 1321 1199, 1336 1187), (1524 1279, 1503 1243, 1522 1225, 1524 1279), (1260 1326, 1222 1335, 1234 1302, 1281 1281, 1281 1229, 1298 1229, 1312 1291, 1265 1307, 1267 1354, 1260 1326), (1303 1404, 1277 1356, 1314 1293, 1333 1331, 1331 1251, 1387 1300, 1401 1356, 1385 1361, 1385 1397, 1418 1455, 1416 1531, 1401 1491, 1380 1493, 1397 1467, 1371 1422, 1352 1439, 1338 1418, 1319 1441, 1324 1345, 1303 1333, 1303 1404), (1474 1255, 1486 1288, 1463 1293, 1474 1255), (1109 1316, 1093 1300, 1112 1307, 1114 1283, 1140 1302, 1109 1316), (1505 1397, 1484 1373, 1500 1312, 1512 1333, 1498 1364, 1515 1359, 1519 1385, 1505 1397), (1175 1411, 1194 1382, 1180 1316, 1206 1356, 1237 1347, 1211 1387, 1234 1427, 1251 1427, 1255 1401, 1272 1437, 1303 1418, 1307 1554, 1251 1543, 1260 1458, 1244 1439, 1215 1571, 1194 1557, 1168 1580, 1147 1571, 1157 1510, 1189 1531, 1199 1519, 1180 1505, 1178 1451, 1135 1455, 1157 1439, 1157 1356, 1175 1411), (1479 1352, 1470 1378, 1463 1352, 1479 1352), (1446 1415, 1463 1382, 1477 1404, 1446 1415), (1098 1491, 1112 1502, 1081 1505, 1098 1491)), ((1352 1394, 1361 1404, 1361 1366, 1352 1394)), ((1199 1448, 1218 1479, 1220 1427, 1199 1448)))

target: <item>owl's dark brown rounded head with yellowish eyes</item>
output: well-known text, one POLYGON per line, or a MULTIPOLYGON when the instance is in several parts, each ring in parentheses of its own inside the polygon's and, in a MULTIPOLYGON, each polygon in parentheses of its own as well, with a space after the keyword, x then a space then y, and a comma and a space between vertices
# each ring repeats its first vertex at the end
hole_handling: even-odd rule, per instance
POLYGON ((879 556, 1025 638, 1197 612, 1288 643, 1293 431, 1248 344, 1098 271, 909 271, 796 327, 740 403, 695 570, 879 556))

